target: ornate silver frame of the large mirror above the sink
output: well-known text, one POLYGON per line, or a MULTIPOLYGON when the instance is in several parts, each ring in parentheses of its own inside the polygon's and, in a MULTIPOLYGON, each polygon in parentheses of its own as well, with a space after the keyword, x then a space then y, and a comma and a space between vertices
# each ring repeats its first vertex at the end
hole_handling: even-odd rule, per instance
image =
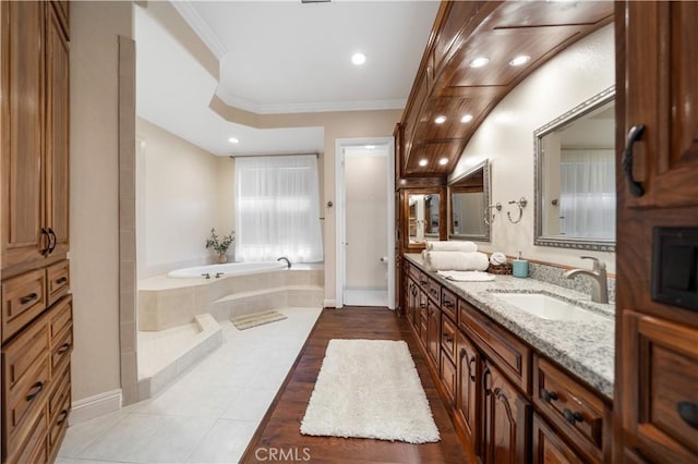
MULTIPOLYGON (((602 90, 601 93, 594 95, 587 101, 581 105, 573 108, 567 111, 563 115, 555 118, 553 121, 537 129, 533 132, 533 172, 535 175, 534 185, 534 198, 535 198, 535 208, 534 208, 534 233, 533 233, 533 244, 538 246, 554 246, 558 248, 574 248, 574 249, 591 249, 594 252, 615 252, 615 242, 613 239, 561 239, 558 236, 546 236, 543 235, 543 154, 541 152, 541 139, 554 132, 557 131, 574 120, 577 120, 585 114, 595 110, 597 108, 613 101, 615 98, 615 85, 602 90)), ((617 150, 617 147, 616 147, 617 150)))

